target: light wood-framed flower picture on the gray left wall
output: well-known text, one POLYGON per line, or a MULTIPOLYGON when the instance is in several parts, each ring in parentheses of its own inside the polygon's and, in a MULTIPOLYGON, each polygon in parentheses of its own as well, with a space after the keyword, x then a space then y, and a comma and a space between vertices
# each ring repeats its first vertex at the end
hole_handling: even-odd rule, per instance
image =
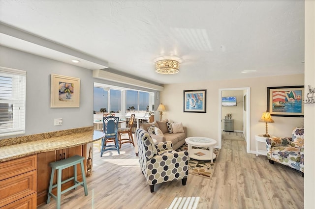
POLYGON ((80 78, 51 74, 50 107, 79 107, 80 78))

